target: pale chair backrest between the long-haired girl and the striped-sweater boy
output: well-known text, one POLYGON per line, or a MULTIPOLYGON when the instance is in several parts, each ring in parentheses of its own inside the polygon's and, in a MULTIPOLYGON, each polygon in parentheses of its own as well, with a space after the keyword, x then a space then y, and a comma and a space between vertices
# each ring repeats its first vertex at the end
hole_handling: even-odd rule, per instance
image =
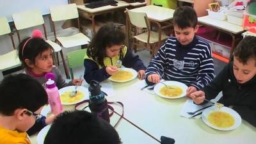
POLYGON ((145 18, 147 18, 146 13, 132 12, 131 10, 127 10, 127 13, 132 25, 140 28, 147 28, 147 22, 145 20, 145 18))

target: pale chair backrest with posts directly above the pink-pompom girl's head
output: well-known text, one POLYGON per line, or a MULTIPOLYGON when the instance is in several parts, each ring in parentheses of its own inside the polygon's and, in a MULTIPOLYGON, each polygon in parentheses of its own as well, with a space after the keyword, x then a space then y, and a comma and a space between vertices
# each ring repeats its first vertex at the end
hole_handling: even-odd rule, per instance
POLYGON ((20 42, 20 33, 22 29, 32 28, 34 26, 42 25, 44 28, 45 39, 47 40, 46 28, 44 24, 44 18, 42 16, 41 10, 28 10, 25 12, 14 13, 12 19, 17 29, 17 35, 20 42))

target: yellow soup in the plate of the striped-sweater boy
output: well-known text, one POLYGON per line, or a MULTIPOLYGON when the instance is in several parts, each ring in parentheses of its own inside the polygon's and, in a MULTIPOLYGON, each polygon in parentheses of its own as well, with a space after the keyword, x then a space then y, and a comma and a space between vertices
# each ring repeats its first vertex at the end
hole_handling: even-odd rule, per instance
POLYGON ((163 86, 160 88, 159 93, 166 97, 178 97, 183 93, 183 90, 179 86, 163 86))

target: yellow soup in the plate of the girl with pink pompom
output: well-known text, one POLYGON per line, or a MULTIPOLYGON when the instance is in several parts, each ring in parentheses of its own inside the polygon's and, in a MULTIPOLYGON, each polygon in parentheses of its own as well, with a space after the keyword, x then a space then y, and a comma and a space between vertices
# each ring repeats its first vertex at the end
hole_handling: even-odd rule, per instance
POLYGON ((74 102, 79 102, 81 101, 81 99, 84 98, 84 93, 83 92, 80 92, 77 90, 77 93, 76 93, 76 96, 74 97, 70 97, 70 93, 72 93, 72 90, 71 91, 68 91, 68 92, 65 92, 61 95, 60 99, 61 99, 61 102, 63 103, 74 103, 74 102))

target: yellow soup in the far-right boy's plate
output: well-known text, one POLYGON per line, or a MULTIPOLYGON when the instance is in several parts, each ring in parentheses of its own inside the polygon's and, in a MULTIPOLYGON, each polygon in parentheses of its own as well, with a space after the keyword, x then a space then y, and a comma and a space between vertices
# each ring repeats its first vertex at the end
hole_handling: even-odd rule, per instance
POLYGON ((235 119, 232 115, 229 113, 223 112, 223 111, 215 111, 210 113, 210 115, 207 118, 208 122, 210 122, 212 125, 220 128, 227 128, 231 127, 235 124, 235 119))

